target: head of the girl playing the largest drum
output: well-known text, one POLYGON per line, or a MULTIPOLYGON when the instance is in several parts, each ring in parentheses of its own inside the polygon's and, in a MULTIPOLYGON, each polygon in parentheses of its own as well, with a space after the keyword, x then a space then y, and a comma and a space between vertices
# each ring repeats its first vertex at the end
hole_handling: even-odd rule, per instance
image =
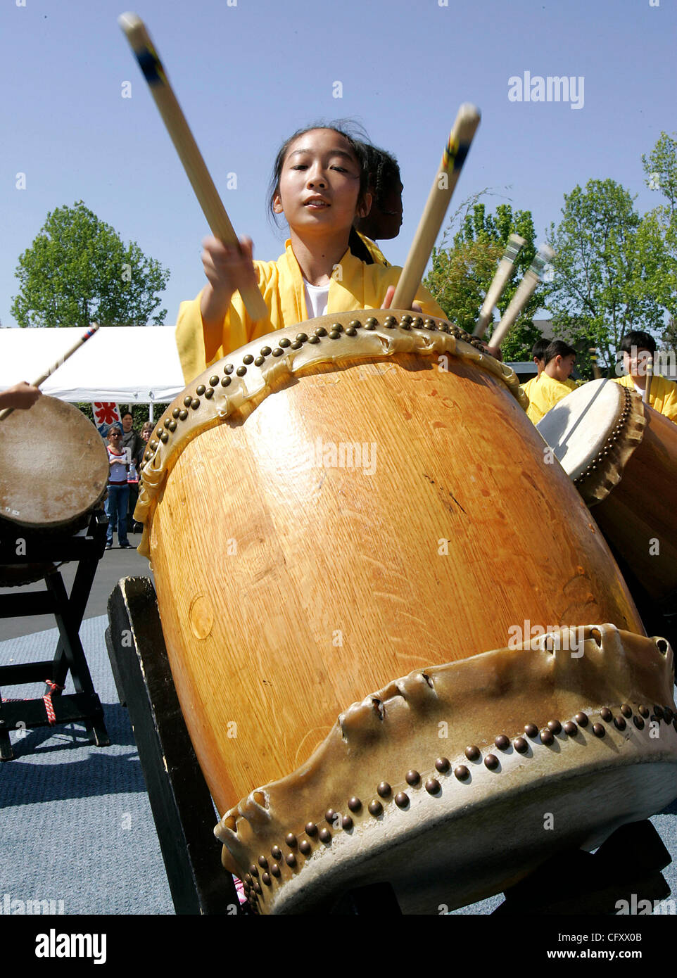
POLYGON ((334 129, 311 129, 290 146, 273 200, 293 231, 348 233, 369 213, 370 195, 357 206, 360 166, 349 143, 334 129))

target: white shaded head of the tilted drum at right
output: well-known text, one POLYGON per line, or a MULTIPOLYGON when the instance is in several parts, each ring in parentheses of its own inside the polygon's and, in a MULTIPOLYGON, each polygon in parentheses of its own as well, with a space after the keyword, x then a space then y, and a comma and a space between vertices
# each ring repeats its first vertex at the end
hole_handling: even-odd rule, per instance
POLYGON ((564 397, 536 425, 573 481, 603 450, 623 403, 623 388, 613 380, 591 380, 564 397))

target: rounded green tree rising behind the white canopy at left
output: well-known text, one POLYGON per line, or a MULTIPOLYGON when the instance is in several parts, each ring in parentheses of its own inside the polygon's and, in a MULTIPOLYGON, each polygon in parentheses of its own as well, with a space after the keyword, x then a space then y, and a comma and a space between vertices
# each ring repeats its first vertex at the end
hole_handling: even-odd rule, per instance
MULTIPOLYGON (((20 326, 145 326, 169 272, 138 244, 123 244, 78 200, 47 215, 19 259, 21 290, 12 304, 20 326)), ((152 322, 160 326, 166 310, 152 322)))

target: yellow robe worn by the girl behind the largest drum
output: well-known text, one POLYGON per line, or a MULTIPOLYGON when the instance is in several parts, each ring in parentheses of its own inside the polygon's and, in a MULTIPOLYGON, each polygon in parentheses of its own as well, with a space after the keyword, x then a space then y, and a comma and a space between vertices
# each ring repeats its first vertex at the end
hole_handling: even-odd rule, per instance
MULTIPOLYGON (((228 353, 274 330, 282 330, 308 318, 303 278, 293 254, 291 241, 277 261, 254 261, 256 284, 268 307, 270 318, 252 322, 240 292, 231 300, 223 321, 220 341, 206 343, 200 311, 202 292, 190 302, 182 302, 176 321, 176 345, 186 383, 228 353)), ((402 269, 384 265, 365 265, 350 250, 341 258, 336 276, 332 277, 327 299, 327 314, 358 309, 380 309, 388 286, 397 285, 402 269), (340 273, 338 275, 338 272, 340 273)), ((427 316, 446 319, 443 311, 423 286, 416 301, 427 316)))

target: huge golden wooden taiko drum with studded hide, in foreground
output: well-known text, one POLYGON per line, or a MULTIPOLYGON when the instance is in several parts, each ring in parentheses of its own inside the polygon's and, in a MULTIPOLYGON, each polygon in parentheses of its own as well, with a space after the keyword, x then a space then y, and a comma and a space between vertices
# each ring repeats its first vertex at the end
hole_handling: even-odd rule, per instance
POLYGON ((374 310, 249 343, 158 422, 140 549, 257 910, 384 879, 437 913, 677 794, 672 651, 520 399, 374 310))

